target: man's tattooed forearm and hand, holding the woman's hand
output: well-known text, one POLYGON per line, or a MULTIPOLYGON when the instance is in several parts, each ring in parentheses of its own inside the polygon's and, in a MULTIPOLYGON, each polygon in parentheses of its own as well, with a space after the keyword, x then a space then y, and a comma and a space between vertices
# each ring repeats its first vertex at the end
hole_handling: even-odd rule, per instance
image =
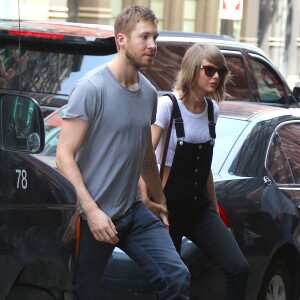
MULTIPOLYGON (((153 201, 151 201, 150 199, 145 200, 144 198, 143 203, 162 220, 166 227, 169 227, 166 198, 159 177, 151 133, 149 134, 146 146, 141 176, 153 199, 153 201)), ((142 184, 142 181, 140 181, 139 185, 140 184, 142 184)))

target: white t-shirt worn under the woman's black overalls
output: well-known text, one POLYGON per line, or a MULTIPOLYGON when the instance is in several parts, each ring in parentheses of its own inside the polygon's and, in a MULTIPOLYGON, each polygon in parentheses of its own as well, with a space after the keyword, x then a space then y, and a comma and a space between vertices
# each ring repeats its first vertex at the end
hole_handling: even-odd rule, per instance
MULTIPOLYGON (((178 99, 178 95, 176 93, 174 93, 174 95, 177 98, 177 102, 183 119, 183 126, 185 132, 184 141, 193 144, 206 143, 210 141, 211 137, 209 135, 209 128, 208 128, 207 102, 206 102, 206 108, 203 113, 194 114, 187 110, 187 108, 182 103, 182 101, 178 99)), ((216 123, 219 115, 219 107, 215 101, 213 101, 213 105, 214 105, 214 121, 216 123)), ((173 103, 168 96, 163 96, 158 99, 156 121, 154 124, 156 124, 157 126, 159 126, 164 130, 155 151, 157 162, 159 164, 161 163, 162 156, 163 156, 163 150, 164 150, 166 135, 167 135, 170 119, 171 119, 172 109, 173 109, 173 103)), ((177 136, 176 136, 175 125, 173 122, 170 142, 169 142, 169 149, 168 149, 166 162, 165 162, 165 165, 168 167, 172 166, 176 144, 177 144, 177 136)))

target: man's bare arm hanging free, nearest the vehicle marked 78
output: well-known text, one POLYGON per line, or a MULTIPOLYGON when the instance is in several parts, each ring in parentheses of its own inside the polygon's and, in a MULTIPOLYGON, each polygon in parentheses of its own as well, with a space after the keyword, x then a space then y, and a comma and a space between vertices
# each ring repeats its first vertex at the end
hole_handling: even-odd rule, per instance
POLYGON ((58 170, 74 185, 77 200, 87 217, 96 240, 116 244, 116 228, 111 219, 98 207, 86 188, 75 157, 80 150, 89 124, 80 118, 64 119, 56 152, 58 170))

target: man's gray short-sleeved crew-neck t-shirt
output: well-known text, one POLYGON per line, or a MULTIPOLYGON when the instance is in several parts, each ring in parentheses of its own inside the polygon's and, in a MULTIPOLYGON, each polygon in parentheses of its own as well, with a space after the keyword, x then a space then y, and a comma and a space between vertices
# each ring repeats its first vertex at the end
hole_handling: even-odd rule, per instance
POLYGON ((91 196, 112 219, 140 200, 137 181, 155 122, 157 91, 141 73, 138 79, 139 89, 129 91, 100 66, 76 83, 64 115, 90 124, 76 159, 91 196))

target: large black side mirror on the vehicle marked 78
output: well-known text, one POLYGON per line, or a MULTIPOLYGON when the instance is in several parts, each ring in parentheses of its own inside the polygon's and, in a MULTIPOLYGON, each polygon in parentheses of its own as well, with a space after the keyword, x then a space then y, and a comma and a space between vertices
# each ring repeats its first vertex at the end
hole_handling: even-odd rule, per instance
POLYGON ((32 98, 0 94, 0 148, 8 151, 43 151, 45 129, 39 104, 32 98))

